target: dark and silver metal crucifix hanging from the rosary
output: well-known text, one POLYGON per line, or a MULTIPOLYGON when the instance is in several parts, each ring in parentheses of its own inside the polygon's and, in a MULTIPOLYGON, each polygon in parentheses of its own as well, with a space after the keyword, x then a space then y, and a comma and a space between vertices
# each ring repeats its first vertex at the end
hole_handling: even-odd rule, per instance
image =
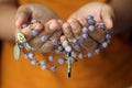
POLYGON ((67 72, 67 76, 68 78, 70 78, 70 73, 72 73, 72 63, 74 62, 77 62, 77 59, 75 59, 74 57, 72 57, 70 53, 67 53, 66 54, 66 63, 67 63, 67 68, 68 68, 68 72, 67 72))

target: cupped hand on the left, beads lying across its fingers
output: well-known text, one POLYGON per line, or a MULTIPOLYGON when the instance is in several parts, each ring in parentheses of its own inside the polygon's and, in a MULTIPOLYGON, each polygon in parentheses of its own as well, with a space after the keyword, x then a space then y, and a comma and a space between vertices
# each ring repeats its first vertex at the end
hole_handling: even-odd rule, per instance
POLYGON ((25 4, 18 9, 15 15, 15 26, 22 26, 22 33, 25 34, 28 43, 40 52, 50 52, 55 45, 52 40, 58 40, 62 31, 62 20, 50 8, 41 4, 25 4), (33 23, 32 28, 29 22, 33 23), (35 33, 34 33, 35 32, 35 33))

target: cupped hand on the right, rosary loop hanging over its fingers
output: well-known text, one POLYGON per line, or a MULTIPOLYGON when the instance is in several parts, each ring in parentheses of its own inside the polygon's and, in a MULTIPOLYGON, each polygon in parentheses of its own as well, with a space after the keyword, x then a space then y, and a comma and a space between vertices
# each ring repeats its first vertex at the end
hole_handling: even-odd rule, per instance
MULTIPOLYGON (((82 26, 88 28, 88 15, 92 15, 97 23, 105 23, 107 29, 113 26, 112 20, 114 14, 110 6, 100 2, 88 3, 72 14, 67 22, 63 24, 64 35, 69 42, 81 36, 82 26)), ((80 43, 80 47, 82 50, 94 51, 98 47, 99 43, 105 41, 105 31, 96 28, 92 32, 89 32, 88 37, 80 43)), ((75 44, 73 47, 77 50, 75 44)))

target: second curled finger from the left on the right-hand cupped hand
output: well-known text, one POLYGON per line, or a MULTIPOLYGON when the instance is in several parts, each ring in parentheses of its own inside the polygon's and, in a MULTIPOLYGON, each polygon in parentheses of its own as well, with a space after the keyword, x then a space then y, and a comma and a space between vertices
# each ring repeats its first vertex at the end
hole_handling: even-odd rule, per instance
POLYGON ((67 22, 72 26, 72 31, 74 33, 74 36, 76 38, 78 38, 81 34, 81 25, 78 23, 78 21, 76 19, 69 19, 67 22))

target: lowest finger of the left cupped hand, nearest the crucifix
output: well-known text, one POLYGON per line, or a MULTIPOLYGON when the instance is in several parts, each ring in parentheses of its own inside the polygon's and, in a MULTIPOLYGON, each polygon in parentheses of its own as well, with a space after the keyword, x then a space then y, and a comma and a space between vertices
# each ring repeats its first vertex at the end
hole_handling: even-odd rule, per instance
POLYGON ((62 35, 62 31, 56 31, 53 36, 50 37, 48 41, 46 41, 40 48, 40 52, 48 53, 53 50, 55 50, 55 46, 58 44, 58 40, 62 35))

